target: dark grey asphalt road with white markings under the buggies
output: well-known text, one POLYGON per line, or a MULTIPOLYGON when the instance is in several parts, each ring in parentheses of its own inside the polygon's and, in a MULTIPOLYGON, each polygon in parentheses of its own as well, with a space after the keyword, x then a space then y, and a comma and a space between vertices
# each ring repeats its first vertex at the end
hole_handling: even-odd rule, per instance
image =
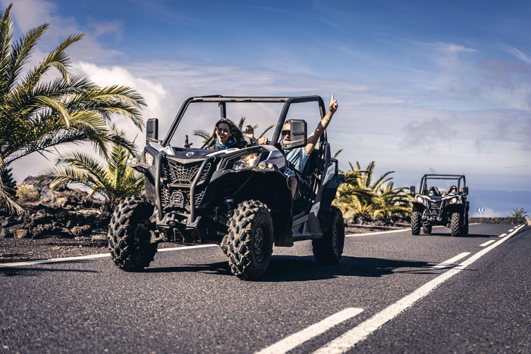
POLYGON ((260 281, 218 246, 0 266, 0 353, 531 353, 531 227, 348 236, 338 265, 274 248, 260 281), (501 236, 503 235, 503 236, 501 236))

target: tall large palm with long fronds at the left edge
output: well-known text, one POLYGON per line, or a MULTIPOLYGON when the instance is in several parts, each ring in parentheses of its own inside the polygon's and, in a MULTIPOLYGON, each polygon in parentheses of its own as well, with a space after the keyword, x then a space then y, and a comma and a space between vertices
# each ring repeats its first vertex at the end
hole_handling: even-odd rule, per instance
MULTIPOLYGON (((30 153, 50 152, 70 142, 89 141, 104 157, 114 143, 129 147, 127 140, 110 131, 109 122, 114 115, 123 115, 142 129, 142 97, 126 86, 102 88, 69 73, 65 50, 80 41, 82 33, 64 39, 23 76, 25 64, 49 25, 32 28, 13 42, 11 6, 0 12, 0 171, 30 153), (44 82, 53 68, 59 77, 44 82)), ((22 212, 6 187, 0 182, 0 210, 22 212)))

